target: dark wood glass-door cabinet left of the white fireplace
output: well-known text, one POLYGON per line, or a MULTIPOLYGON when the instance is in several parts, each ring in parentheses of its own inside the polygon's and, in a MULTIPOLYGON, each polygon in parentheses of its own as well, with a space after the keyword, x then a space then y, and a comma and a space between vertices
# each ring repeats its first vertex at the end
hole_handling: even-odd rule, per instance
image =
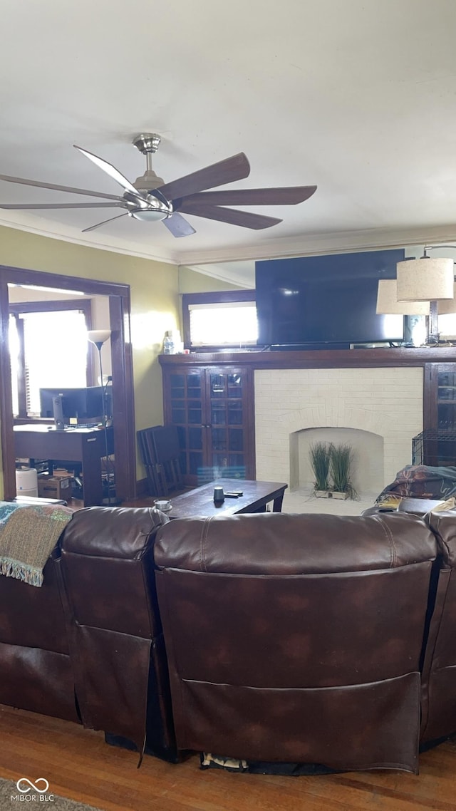
POLYGON ((253 371, 163 366, 165 422, 179 434, 184 481, 255 478, 253 371))

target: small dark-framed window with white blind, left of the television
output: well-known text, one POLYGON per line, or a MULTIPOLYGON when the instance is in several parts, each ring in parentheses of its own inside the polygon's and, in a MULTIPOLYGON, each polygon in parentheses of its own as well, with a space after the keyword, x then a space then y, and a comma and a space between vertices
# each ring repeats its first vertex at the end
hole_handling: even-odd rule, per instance
POLYGON ((183 337, 187 349, 255 346, 255 290, 184 294, 183 337))

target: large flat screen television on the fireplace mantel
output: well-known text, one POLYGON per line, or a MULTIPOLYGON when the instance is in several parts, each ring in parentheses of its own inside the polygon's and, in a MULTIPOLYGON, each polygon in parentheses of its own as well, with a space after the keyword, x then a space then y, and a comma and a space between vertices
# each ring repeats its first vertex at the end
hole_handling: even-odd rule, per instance
POLYGON ((348 348, 403 341, 402 315, 376 315, 380 279, 405 251, 363 251, 256 262, 258 344, 348 348))

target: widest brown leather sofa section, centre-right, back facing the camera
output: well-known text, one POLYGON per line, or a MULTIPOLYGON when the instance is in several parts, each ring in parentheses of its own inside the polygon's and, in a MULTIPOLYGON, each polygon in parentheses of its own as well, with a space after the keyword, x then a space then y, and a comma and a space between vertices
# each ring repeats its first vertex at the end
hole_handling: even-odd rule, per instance
POLYGON ((154 555, 178 749, 418 770, 424 521, 182 519, 154 555))

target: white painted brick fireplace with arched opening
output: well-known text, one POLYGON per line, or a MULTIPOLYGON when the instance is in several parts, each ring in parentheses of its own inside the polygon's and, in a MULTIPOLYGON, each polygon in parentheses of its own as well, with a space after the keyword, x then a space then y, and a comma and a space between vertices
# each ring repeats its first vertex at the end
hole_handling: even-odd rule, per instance
POLYGON ((423 369, 259 369, 255 371, 256 478, 312 484, 316 440, 354 448, 359 492, 380 492, 411 464, 423 430, 423 369))

